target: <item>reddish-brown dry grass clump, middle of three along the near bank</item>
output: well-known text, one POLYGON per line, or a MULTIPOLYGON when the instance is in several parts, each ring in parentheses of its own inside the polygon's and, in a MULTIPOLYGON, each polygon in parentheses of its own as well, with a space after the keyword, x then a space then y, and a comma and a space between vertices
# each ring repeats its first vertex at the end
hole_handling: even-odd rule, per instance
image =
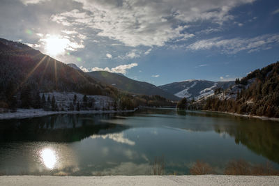
POLYGON ((190 168, 190 174, 192 175, 203 175, 203 174, 213 174, 213 168, 206 162, 197 160, 195 164, 190 168))

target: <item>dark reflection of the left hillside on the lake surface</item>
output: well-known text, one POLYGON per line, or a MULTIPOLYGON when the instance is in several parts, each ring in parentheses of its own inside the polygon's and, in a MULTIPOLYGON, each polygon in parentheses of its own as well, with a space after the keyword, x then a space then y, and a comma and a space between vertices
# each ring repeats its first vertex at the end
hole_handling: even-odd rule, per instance
POLYGON ((103 123, 111 114, 53 115, 0 121, 0 141, 80 141, 92 134, 121 132, 127 126, 103 123))

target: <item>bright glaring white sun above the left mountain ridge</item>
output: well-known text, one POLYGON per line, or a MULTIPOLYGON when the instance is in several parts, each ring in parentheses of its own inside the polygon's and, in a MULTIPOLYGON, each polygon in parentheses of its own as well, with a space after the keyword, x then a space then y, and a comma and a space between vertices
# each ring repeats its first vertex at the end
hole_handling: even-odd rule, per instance
POLYGON ((43 42, 45 42, 45 52, 50 56, 57 56, 65 52, 70 40, 61 36, 47 36, 43 42))

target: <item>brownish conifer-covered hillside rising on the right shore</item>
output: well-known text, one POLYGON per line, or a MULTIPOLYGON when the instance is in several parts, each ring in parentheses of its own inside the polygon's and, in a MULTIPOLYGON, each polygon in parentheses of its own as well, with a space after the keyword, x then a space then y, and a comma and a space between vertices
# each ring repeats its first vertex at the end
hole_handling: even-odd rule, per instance
POLYGON ((236 84, 242 88, 235 99, 221 100, 216 92, 206 100, 204 109, 279 117, 279 62, 236 79, 236 84))

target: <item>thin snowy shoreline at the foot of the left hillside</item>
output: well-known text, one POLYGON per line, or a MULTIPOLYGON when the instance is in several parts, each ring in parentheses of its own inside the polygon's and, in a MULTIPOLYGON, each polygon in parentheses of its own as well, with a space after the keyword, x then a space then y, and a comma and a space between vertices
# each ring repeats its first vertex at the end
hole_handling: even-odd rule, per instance
POLYGON ((50 116, 55 114, 113 114, 113 113, 123 113, 123 112, 133 112, 133 110, 89 110, 89 111, 44 111, 43 109, 17 109, 16 112, 6 112, 0 114, 0 120, 6 119, 20 119, 20 118, 36 118, 42 116, 50 116))

